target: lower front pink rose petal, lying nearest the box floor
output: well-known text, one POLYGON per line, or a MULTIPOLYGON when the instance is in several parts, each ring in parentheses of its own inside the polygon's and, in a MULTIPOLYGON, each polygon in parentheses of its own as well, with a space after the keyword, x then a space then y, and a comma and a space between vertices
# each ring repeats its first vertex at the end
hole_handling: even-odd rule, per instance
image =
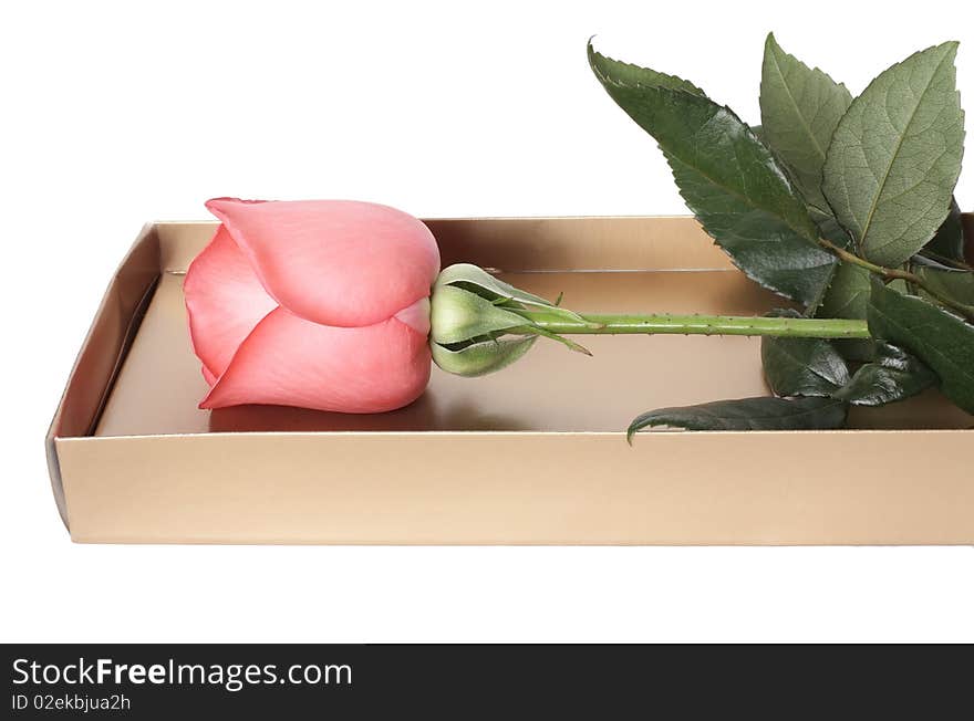
POLYGON ((426 336, 395 318, 333 327, 279 307, 247 336, 199 407, 268 404, 384 412, 418 398, 429 367, 426 336))

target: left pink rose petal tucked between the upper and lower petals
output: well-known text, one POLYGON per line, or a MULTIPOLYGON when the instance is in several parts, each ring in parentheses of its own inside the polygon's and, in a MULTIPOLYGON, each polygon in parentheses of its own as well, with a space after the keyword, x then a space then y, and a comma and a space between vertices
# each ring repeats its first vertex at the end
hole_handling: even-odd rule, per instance
POLYGON ((203 375, 210 385, 244 338, 278 306, 224 226, 190 263, 183 294, 193 351, 203 360, 203 375))

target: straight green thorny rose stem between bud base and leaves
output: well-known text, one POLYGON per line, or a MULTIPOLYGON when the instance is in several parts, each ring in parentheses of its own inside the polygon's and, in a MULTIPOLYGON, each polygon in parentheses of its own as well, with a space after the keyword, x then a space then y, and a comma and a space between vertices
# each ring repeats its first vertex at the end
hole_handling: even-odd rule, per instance
MULTIPOLYGON (((583 315, 582 322, 546 311, 518 311, 535 326, 558 335, 773 335, 792 338, 868 338, 866 321, 733 315, 583 315)), ((517 328, 511 328, 517 333, 517 328)))

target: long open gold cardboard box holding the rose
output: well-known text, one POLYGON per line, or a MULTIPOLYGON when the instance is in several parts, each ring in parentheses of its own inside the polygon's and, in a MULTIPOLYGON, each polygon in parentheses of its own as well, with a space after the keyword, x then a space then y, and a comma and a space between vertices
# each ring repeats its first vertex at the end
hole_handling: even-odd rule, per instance
MULTIPOLYGON (((579 311, 781 303, 690 218, 428 224, 444 265, 501 269, 579 311)), ((590 336, 592 358, 539 343, 484 378, 434 368, 417 403, 384 415, 199 410, 182 281, 214 229, 147 226, 99 309, 48 437, 74 541, 974 543, 974 418, 936 393, 856 410, 856 430, 662 431, 626 446, 643 410, 766 394, 757 338, 590 336)))

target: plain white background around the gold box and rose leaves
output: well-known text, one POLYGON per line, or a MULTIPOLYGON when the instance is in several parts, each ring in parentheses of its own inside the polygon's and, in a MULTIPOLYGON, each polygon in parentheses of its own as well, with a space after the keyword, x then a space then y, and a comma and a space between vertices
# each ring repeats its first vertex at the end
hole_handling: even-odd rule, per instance
MULTIPOLYGON (((73 545, 42 443, 146 220, 204 218, 225 195, 684 212, 654 143, 591 76, 589 35, 753 122, 768 30, 853 93, 953 38, 970 106, 965 4, 6 3, 0 639, 974 640, 970 547, 73 545)), ((959 197, 974 210, 970 169, 959 197)))

